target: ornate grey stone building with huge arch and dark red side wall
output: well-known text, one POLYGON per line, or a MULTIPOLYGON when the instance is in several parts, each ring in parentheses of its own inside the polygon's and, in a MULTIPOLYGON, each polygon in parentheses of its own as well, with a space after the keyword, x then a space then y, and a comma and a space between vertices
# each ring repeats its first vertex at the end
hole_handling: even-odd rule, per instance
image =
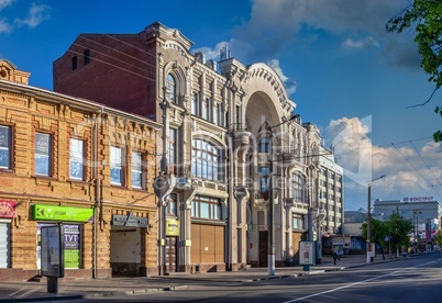
POLYGON ((135 34, 80 34, 54 61, 54 90, 163 125, 161 272, 299 260, 320 206, 319 130, 301 122, 267 65, 245 66, 228 48, 206 61, 191 46, 161 23, 135 34))

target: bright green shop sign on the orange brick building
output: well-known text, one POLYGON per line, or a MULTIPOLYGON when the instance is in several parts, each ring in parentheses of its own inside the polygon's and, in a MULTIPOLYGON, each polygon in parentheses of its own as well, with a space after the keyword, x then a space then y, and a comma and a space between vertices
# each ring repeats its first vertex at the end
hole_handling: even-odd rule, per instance
POLYGON ((34 220, 93 222, 93 209, 85 207, 34 204, 32 215, 34 220))

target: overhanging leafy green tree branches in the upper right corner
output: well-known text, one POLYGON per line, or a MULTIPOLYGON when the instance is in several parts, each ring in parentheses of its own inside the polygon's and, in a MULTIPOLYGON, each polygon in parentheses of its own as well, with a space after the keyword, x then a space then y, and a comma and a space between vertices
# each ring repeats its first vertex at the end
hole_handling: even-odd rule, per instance
MULTIPOLYGON (((420 66, 429 75, 429 81, 435 87, 434 92, 442 86, 442 1, 440 0, 413 0, 398 15, 391 18, 387 25, 387 32, 402 33, 413 27, 415 42, 418 44, 421 56, 420 66)), ((442 106, 437 105, 434 112, 442 116, 442 106)), ((442 132, 433 134, 435 142, 442 142, 442 132)))

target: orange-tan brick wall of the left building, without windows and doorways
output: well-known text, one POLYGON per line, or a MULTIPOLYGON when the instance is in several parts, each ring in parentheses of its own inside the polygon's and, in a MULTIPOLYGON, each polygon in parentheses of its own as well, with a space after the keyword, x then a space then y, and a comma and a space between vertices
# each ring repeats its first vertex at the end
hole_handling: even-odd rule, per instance
MULTIPOLYGON (((98 125, 98 178, 102 180, 102 221, 98 221, 97 269, 110 269, 110 228, 112 214, 148 217, 154 225, 145 232, 145 250, 142 267, 157 267, 156 198, 153 181, 157 176, 156 131, 147 122, 80 110, 71 100, 60 97, 18 93, 0 87, 0 124, 12 126, 13 154, 11 170, 0 170, 0 199, 15 201, 16 216, 11 224, 11 268, 33 271, 36 266, 37 222, 32 218, 32 205, 36 203, 60 206, 93 207, 96 205, 96 180, 92 167, 93 117, 98 125), (57 100, 54 100, 57 99, 57 100), (48 133, 52 144, 52 176, 35 176, 35 132, 48 133), (85 180, 69 180, 69 138, 85 142, 85 180), (145 154, 145 184, 133 190, 130 169, 125 171, 125 186, 110 184, 109 146, 124 146, 126 155, 132 150, 145 154)), ((82 269, 93 268, 93 224, 82 224, 82 269)), ((1 271, 1 269, 0 269, 1 271)), ((0 274, 1 276, 1 274, 0 274)))

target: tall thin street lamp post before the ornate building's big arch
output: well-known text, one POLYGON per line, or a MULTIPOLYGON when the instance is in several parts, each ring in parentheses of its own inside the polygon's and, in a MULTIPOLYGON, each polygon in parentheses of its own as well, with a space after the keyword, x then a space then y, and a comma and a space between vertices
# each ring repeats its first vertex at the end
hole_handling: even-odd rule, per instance
MULTIPOLYGON (((299 114, 294 114, 289 120, 284 121, 279 124, 270 126, 270 139, 274 136, 274 128, 278 127, 285 123, 288 123, 295 119, 299 117, 299 114)), ((267 266, 268 266, 268 276, 275 276, 275 203, 274 203, 274 186, 273 186, 273 142, 270 144, 270 168, 269 168, 269 193, 268 193, 268 257, 267 257, 267 266)))

